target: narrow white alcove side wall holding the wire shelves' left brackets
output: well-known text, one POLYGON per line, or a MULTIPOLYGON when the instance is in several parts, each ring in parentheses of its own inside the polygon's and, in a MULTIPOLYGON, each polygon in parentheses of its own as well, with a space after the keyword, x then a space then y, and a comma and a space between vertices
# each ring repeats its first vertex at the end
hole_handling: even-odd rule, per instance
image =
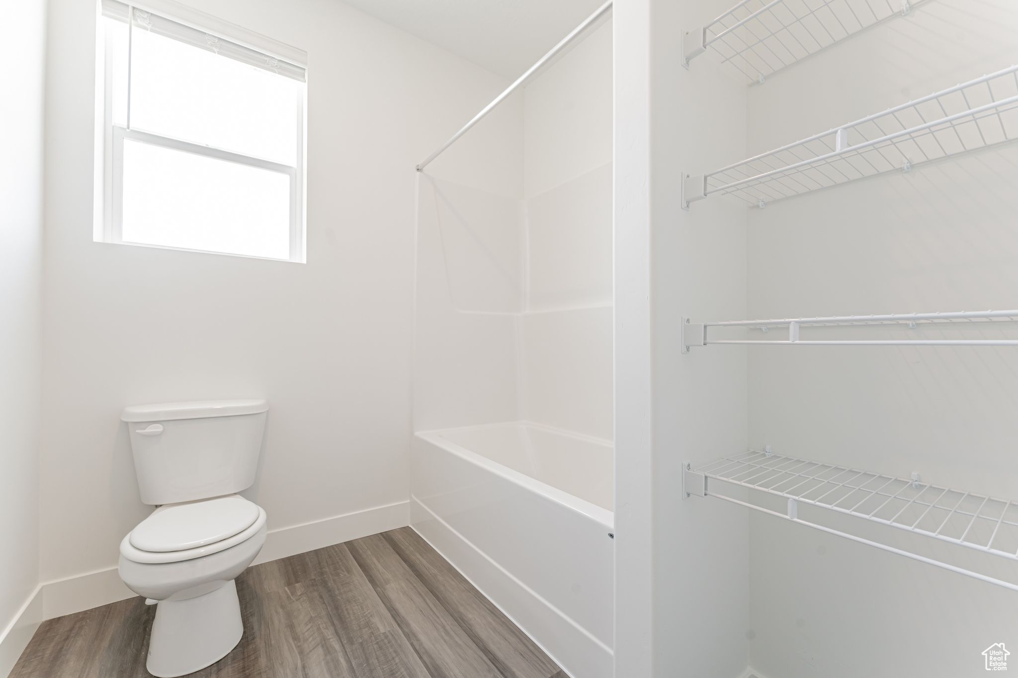
MULTIPOLYGON (((746 668, 745 509, 682 498, 682 467, 746 441, 746 352, 682 354, 682 317, 739 318, 746 308, 745 207, 724 199, 681 209, 683 174, 745 153, 745 86, 710 58, 679 66, 680 33, 731 6, 655 5, 653 152, 654 676, 736 678, 746 668)), ((720 349, 720 350, 719 350, 720 349)))

